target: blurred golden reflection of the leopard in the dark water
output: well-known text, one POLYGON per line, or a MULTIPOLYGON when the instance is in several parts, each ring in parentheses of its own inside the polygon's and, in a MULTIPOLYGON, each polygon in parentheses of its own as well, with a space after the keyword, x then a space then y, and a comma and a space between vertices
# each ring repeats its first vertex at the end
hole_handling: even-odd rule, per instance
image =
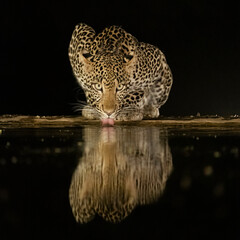
POLYGON ((172 170, 166 132, 86 127, 84 141, 69 190, 77 222, 89 222, 96 214, 120 222, 137 205, 158 200, 172 170))

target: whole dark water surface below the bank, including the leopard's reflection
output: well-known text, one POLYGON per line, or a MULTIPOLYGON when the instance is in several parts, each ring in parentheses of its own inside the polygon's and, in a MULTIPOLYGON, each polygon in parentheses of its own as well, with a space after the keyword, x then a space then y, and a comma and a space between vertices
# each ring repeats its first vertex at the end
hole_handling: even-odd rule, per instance
POLYGON ((240 239, 240 135, 0 130, 0 239, 240 239))

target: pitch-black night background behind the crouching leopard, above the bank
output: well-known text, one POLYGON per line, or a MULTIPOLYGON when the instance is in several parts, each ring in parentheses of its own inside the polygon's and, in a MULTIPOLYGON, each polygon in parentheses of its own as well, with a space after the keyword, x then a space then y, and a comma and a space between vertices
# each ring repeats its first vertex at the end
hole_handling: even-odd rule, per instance
POLYGON ((240 114, 234 2, 1 1, 0 114, 73 114, 83 96, 67 51, 79 22, 97 32, 120 25, 165 53, 174 84, 163 115, 240 114))

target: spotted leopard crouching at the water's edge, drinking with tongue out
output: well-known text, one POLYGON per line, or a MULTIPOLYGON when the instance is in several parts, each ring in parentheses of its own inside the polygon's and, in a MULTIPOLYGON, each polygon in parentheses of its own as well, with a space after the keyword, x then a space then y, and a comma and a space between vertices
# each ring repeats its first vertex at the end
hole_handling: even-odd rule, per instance
POLYGON ((86 97, 86 104, 77 107, 83 117, 112 121, 158 118, 173 83, 171 69, 158 47, 139 42, 120 26, 96 33, 79 23, 68 56, 86 97))

